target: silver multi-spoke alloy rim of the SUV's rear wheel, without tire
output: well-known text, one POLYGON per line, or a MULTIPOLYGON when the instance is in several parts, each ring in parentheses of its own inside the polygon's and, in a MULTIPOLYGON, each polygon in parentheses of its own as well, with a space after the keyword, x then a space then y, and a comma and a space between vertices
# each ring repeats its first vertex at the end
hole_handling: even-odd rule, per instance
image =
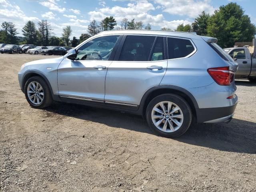
POLYGON ((152 122, 163 132, 177 131, 183 123, 184 116, 180 107, 170 101, 162 101, 151 112, 152 122))

